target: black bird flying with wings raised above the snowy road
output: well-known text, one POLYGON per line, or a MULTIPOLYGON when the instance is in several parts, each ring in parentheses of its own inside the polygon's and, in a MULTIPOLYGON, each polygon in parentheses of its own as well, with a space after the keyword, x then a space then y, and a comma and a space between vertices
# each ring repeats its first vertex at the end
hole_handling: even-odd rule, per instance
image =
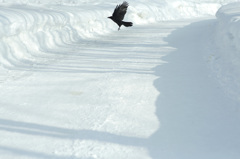
POLYGON ((124 1, 121 5, 117 5, 112 16, 108 17, 112 19, 119 26, 118 30, 120 30, 121 25, 125 27, 132 26, 132 22, 124 22, 123 18, 127 12, 128 3, 124 1))

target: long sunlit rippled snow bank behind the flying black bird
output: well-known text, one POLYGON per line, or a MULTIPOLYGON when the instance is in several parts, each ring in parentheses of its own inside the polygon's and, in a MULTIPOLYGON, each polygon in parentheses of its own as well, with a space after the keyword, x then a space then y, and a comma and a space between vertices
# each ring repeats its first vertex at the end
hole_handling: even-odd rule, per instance
MULTIPOLYGON (((209 16, 230 1, 234 0, 132 0, 125 18, 139 25, 209 16)), ((118 3, 117 0, 1 0, 1 65, 28 67, 39 60, 51 59, 50 53, 61 45, 116 31, 117 25, 107 17, 118 3)))

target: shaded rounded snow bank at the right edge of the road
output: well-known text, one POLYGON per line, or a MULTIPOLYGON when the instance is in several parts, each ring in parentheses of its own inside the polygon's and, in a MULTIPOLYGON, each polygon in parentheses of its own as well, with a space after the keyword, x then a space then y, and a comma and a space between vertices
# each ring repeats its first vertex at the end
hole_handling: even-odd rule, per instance
POLYGON ((227 93, 240 100, 240 3, 221 7, 216 17, 214 70, 227 93))

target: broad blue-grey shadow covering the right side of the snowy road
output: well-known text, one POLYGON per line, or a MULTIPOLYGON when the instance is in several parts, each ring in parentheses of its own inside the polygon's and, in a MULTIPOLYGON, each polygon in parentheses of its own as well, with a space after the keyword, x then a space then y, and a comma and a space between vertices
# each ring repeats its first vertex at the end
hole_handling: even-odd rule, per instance
POLYGON ((176 48, 154 68, 160 95, 156 115, 160 128, 149 138, 152 159, 237 159, 240 116, 226 99, 207 66, 216 20, 193 22, 165 41, 176 48))

